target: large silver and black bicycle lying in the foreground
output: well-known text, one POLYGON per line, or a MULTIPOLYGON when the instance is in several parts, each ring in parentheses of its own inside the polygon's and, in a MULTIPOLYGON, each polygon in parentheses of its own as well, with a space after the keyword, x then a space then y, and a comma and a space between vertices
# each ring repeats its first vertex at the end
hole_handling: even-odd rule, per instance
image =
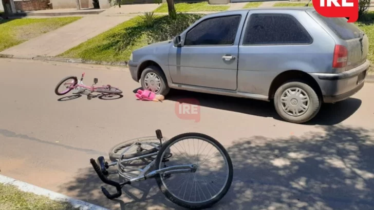
POLYGON ((98 163, 90 160, 100 179, 117 189, 117 193, 111 195, 101 186, 108 199, 120 197, 126 184, 155 178, 161 192, 172 202, 202 209, 221 200, 233 179, 228 152, 217 140, 201 133, 184 133, 165 140, 157 130, 156 137, 133 139, 113 146, 109 158, 111 163, 105 162, 102 156, 97 159, 98 163), (107 178, 107 169, 111 166, 117 166, 123 182, 107 178))

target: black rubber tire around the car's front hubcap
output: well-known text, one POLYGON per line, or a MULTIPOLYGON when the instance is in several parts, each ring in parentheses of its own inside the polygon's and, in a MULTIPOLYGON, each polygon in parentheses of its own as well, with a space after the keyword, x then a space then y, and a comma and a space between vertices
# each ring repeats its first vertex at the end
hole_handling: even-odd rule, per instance
POLYGON ((156 94, 166 96, 169 93, 170 88, 167 85, 165 74, 159 67, 156 67, 156 66, 149 66, 145 68, 144 71, 142 72, 141 77, 140 77, 140 83, 141 83, 143 90, 149 90, 146 87, 145 78, 147 75, 153 75, 153 74, 156 75, 156 78, 160 80, 160 89, 158 91, 152 91, 152 90, 150 91, 156 94))

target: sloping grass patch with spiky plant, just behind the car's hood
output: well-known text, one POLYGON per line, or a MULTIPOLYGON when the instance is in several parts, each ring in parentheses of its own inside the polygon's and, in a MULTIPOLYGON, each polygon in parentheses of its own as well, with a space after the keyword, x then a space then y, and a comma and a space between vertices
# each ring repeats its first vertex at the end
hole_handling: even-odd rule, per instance
POLYGON ((152 27, 146 27, 140 17, 134 17, 58 57, 106 62, 127 61, 132 51, 158 41, 170 40, 202 16, 178 14, 176 20, 167 15, 157 16, 152 27))

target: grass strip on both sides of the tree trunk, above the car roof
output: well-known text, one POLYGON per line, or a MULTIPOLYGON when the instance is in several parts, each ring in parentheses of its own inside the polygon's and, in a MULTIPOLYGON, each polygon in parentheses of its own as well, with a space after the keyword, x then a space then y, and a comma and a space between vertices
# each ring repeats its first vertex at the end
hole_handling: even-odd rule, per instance
MULTIPOLYGON (((210 5, 208 2, 199 3, 176 3, 175 10, 177 12, 211 12, 211 11, 226 11, 230 6, 210 5)), ((154 12, 167 12, 167 4, 164 3, 154 10, 154 12)))

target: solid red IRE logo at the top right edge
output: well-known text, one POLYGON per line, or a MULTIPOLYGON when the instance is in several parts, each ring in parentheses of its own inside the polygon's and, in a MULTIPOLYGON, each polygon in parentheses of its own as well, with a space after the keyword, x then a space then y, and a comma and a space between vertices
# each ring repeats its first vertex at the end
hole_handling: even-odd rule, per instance
POLYGON ((357 0, 312 0, 314 9, 325 17, 347 17, 348 23, 359 18, 359 1, 357 0))

